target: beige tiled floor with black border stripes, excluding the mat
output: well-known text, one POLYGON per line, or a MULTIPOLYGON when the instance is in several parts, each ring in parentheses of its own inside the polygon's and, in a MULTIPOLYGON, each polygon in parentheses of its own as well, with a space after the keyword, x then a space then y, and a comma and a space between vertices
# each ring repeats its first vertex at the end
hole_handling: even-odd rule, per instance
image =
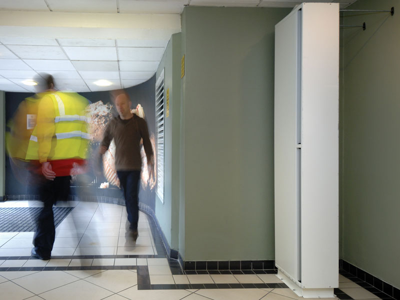
MULTIPOLYGON (((142 212, 134 244, 125 234, 123 206, 62 204, 75 208, 56 228, 48 261, 29 257, 33 232, 0 232, 0 300, 302 299, 263 271, 181 271, 176 260, 166 258, 154 222, 142 212)), ((0 207, 13 205, 39 203, 0 202, 0 207)), ((341 274, 339 282, 340 299, 379 299, 341 274)))

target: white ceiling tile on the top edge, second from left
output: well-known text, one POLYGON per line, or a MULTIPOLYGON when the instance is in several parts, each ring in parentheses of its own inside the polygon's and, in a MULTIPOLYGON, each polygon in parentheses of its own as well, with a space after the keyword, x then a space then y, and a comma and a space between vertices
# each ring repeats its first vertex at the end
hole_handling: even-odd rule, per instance
POLYGON ((117 12, 116 0, 47 0, 52 11, 117 12))

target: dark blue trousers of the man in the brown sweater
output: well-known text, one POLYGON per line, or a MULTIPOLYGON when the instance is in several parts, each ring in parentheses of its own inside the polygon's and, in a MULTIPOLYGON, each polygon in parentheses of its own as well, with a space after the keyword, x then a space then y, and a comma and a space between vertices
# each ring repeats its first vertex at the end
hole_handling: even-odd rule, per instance
POLYGON ((125 198, 126 212, 130 229, 137 230, 137 221, 139 219, 139 179, 140 171, 117 171, 116 172, 123 189, 125 198))

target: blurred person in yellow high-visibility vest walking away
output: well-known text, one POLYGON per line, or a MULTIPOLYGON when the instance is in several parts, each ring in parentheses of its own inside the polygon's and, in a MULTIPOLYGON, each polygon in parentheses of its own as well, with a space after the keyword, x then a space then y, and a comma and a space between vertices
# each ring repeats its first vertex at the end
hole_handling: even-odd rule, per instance
POLYGON ((37 159, 44 177, 39 187, 43 208, 37 220, 31 255, 47 260, 55 239, 52 206, 57 200, 67 200, 71 171, 76 165, 85 164, 89 134, 85 116, 87 99, 74 92, 56 91, 53 77, 44 77, 46 94, 38 104, 37 122, 26 159, 37 159))

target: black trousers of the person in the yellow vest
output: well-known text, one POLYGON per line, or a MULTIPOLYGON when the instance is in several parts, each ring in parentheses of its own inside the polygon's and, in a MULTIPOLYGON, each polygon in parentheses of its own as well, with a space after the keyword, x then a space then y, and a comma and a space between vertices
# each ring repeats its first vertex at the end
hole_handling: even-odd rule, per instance
POLYGON ((44 180, 40 186, 40 200, 43 208, 37 218, 33 245, 37 254, 50 256, 55 239, 53 204, 57 200, 67 200, 71 176, 59 176, 54 180, 44 180))

